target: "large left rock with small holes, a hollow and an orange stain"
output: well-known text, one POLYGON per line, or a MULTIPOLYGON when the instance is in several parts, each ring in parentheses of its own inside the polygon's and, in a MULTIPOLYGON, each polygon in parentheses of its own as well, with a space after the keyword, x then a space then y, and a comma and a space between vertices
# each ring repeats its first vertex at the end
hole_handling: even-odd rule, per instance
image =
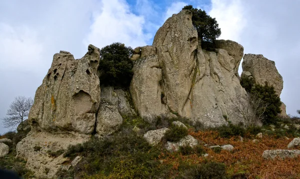
POLYGON ((35 129, 51 133, 93 132, 100 102, 97 53, 98 48, 89 45, 86 55, 78 60, 66 51, 54 54, 29 112, 29 123, 35 129))

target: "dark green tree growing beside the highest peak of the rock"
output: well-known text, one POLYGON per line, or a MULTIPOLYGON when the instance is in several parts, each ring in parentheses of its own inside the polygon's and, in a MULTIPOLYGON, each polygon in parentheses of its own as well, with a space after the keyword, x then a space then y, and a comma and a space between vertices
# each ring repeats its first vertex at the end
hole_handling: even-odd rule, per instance
POLYGON ((202 42, 213 42, 221 35, 217 21, 207 15, 205 10, 193 8, 192 5, 186 5, 182 9, 192 12, 192 24, 198 32, 198 39, 201 39, 202 42))

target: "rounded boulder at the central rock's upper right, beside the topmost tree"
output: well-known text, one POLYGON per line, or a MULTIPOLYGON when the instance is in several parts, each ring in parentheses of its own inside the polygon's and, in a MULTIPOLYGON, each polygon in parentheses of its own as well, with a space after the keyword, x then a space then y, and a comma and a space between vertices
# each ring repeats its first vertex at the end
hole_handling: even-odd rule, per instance
POLYGON ((243 56, 243 46, 231 40, 215 40, 216 48, 224 49, 234 59, 234 75, 239 78, 238 67, 243 56))

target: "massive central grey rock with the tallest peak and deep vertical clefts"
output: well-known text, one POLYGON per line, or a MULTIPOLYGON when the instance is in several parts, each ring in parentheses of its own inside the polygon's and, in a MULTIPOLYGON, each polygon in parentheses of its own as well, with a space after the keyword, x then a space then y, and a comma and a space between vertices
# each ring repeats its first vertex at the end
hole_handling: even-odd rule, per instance
POLYGON ((219 49, 202 50, 191 16, 188 10, 173 14, 152 46, 136 50, 140 59, 130 84, 134 106, 143 118, 173 114, 206 126, 227 124, 226 119, 238 123, 235 109, 246 96, 236 75, 243 47, 226 40, 218 42, 219 49))

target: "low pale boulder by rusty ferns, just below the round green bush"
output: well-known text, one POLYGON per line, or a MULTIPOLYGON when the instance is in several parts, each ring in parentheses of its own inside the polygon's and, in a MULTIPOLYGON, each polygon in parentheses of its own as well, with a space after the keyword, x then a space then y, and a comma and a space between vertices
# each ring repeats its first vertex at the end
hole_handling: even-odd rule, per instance
POLYGON ((187 135, 182 139, 180 139, 178 142, 167 141, 165 145, 165 149, 170 152, 177 152, 179 150, 179 147, 183 147, 183 146, 195 147, 196 145, 198 145, 198 141, 192 136, 187 135))

